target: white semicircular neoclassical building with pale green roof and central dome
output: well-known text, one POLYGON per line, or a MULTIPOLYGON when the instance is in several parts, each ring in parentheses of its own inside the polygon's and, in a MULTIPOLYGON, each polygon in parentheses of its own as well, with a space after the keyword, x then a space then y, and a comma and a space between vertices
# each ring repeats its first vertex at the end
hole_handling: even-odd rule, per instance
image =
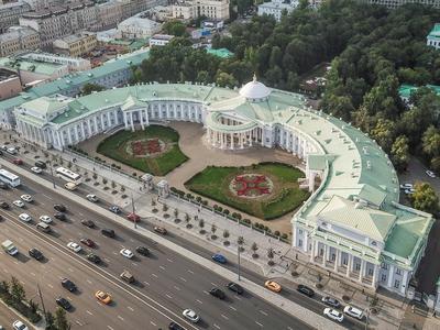
POLYGON ((42 97, 14 110, 16 130, 63 150, 123 125, 189 121, 219 150, 280 147, 301 158, 312 195, 292 219, 293 248, 310 263, 369 288, 411 296, 433 219, 399 205, 388 156, 356 128, 306 107, 302 96, 255 78, 241 89, 143 84, 79 98, 42 97), (319 179, 317 179, 319 178, 319 179))

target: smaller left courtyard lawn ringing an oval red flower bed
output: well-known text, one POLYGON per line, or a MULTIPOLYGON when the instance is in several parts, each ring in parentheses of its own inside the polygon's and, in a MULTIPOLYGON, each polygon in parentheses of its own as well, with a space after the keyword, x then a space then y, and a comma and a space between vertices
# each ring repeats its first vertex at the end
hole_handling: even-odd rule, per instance
POLYGON ((180 151, 178 140, 179 135, 175 130, 150 125, 144 131, 119 131, 103 140, 98 145, 97 152, 144 173, 164 176, 188 160, 180 151), (168 150, 157 157, 134 157, 125 152, 125 146, 131 141, 153 138, 158 138, 168 144, 168 150))

